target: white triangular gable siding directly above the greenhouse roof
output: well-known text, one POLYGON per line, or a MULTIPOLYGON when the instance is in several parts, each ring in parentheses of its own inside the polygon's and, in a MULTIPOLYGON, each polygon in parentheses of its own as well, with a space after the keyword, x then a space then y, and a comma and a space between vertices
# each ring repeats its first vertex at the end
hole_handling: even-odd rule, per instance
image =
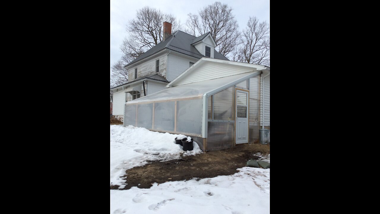
POLYGON ((213 80, 222 77, 229 77, 241 73, 252 72, 251 67, 229 65, 224 63, 210 62, 186 73, 186 77, 177 81, 173 86, 185 85, 204 80, 213 80))

